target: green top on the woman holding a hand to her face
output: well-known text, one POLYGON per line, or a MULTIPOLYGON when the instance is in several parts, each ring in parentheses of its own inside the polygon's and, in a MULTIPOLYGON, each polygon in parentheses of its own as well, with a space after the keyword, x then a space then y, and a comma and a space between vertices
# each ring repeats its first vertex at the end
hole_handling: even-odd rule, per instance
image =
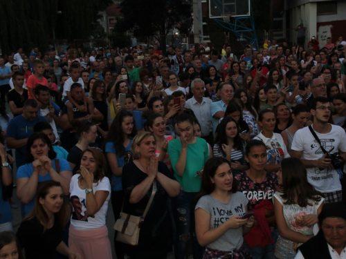
POLYGON ((201 179, 197 175, 197 171, 203 169, 204 164, 209 159, 209 150, 206 140, 197 137, 197 142, 188 144, 186 155, 185 171, 183 176, 180 176, 176 171, 176 162, 179 160, 181 153, 181 142, 179 139, 171 140, 168 143, 168 154, 174 170, 174 176, 179 184, 188 193, 196 193, 201 189, 201 179))

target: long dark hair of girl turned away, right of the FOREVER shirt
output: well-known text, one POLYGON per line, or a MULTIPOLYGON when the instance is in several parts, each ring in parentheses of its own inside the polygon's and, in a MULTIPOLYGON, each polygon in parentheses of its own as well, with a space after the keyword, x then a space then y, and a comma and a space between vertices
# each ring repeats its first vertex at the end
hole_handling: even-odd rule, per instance
POLYGON ((312 206, 309 200, 316 204, 321 200, 322 193, 316 191, 307 181, 307 169, 297 157, 285 158, 281 162, 282 198, 284 204, 298 204, 300 207, 312 206), (295 202, 297 198, 297 202, 295 202))

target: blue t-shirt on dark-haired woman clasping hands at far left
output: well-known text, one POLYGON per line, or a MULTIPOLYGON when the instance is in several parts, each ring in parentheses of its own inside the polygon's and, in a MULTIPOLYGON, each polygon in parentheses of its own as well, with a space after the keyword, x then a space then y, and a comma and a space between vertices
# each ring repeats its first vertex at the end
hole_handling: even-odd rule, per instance
MULTIPOLYGON (((60 159, 59 165, 60 165, 60 172, 71 171, 69 162, 67 162, 66 160, 60 159)), ((55 159, 52 160, 52 167, 55 171, 57 170, 55 169, 55 159)), ((17 179, 30 178, 31 175, 33 175, 33 172, 34 172, 34 168, 33 168, 32 162, 28 164, 24 164, 23 166, 19 167, 17 171, 17 179)), ((39 175, 38 182, 44 182, 48 180, 52 180, 51 175, 49 173, 43 176, 39 175)), ((30 211, 34 209, 34 205, 35 205, 35 197, 28 204, 24 204, 24 216, 28 215, 28 213, 30 213, 30 211)))

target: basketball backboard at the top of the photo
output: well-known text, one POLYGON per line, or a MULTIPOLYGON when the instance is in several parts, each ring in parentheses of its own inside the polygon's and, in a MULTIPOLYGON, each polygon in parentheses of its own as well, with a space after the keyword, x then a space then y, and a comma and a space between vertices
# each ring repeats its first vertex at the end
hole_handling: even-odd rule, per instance
POLYGON ((209 17, 222 18, 250 16, 251 0, 209 0, 209 17))

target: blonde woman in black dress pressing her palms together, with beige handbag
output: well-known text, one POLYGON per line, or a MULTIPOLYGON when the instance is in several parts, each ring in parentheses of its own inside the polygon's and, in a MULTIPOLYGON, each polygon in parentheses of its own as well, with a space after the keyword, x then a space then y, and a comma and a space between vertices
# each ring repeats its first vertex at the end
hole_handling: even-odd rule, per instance
POLYGON ((152 133, 136 135, 131 152, 134 161, 122 168, 122 188, 125 190, 123 211, 143 215, 154 186, 157 191, 140 228, 138 246, 124 244, 125 253, 131 259, 166 258, 167 249, 172 244, 167 198, 179 195, 180 184, 165 163, 158 161, 152 133))

